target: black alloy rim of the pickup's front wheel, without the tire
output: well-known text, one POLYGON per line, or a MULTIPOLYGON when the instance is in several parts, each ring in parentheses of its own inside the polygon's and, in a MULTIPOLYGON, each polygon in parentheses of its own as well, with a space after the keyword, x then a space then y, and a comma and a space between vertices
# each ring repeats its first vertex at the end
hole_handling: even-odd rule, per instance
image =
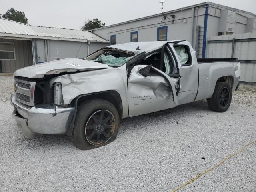
POLYGON ((110 140, 115 127, 116 122, 113 114, 108 110, 98 110, 86 122, 86 139, 92 145, 103 145, 110 140))

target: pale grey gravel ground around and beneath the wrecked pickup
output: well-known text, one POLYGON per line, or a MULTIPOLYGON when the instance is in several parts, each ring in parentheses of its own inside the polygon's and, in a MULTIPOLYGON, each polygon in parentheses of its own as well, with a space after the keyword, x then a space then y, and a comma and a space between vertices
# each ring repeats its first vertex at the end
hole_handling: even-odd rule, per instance
MULTIPOLYGON (((256 91, 246 89, 224 113, 203 100, 122 120, 94 150, 65 135, 27 139, 11 118, 12 83, 0 77, 0 191, 171 191, 256 140, 256 91)), ((254 143, 180 191, 256 191, 255 154, 254 143)))

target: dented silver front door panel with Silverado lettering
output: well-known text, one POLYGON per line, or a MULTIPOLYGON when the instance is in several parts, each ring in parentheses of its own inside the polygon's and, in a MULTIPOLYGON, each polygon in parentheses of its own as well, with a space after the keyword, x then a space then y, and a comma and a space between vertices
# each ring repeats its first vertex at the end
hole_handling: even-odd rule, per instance
MULTIPOLYGON (((128 103, 130 117, 176 106, 176 103, 173 101, 172 90, 165 78, 160 75, 147 77, 142 76, 138 71, 144 67, 147 66, 135 66, 128 79, 128 103)), ((170 82, 174 86, 174 82, 171 80, 170 82)), ((174 94, 174 97, 177 101, 176 94, 174 94)))

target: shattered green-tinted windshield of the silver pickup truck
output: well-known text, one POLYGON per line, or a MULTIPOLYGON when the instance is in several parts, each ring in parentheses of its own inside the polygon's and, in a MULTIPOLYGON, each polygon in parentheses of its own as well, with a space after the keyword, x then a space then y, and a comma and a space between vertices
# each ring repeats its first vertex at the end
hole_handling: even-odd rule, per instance
POLYGON ((116 50, 114 48, 104 48, 88 56, 85 60, 107 64, 112 67, 119 67, 134 55, 134 52, 126 52, 123 50, 116 50))

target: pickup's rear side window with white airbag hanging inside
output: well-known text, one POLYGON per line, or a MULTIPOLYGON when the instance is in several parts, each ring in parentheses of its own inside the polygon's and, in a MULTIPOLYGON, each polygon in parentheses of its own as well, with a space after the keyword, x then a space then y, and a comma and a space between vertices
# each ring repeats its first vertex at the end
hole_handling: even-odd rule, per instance
POLYGON ((173 46, 178 58, 180 60, 180 63, 182 66, 187 66, 192 64, 192 58, 190 55, 190 49, 187 45, 175 45, 173 46))

